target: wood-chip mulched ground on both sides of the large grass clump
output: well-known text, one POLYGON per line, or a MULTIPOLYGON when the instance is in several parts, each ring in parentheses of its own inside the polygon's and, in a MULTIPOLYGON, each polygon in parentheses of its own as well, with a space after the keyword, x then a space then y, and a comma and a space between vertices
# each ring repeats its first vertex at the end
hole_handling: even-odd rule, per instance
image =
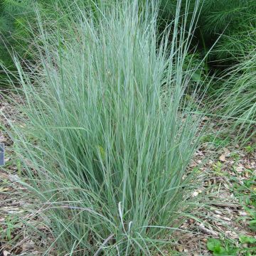
MULTIPOLYGON (((1 96, 0 96, 1 97, 1 96)), ((0 112, 8 114, 9 119, 16 116, 14 107, 0 98, 0 112)), ((0 116, 0 124, 6 125, 0 116)), ((0 168, 0 256, 4 255, 42 255, 45 248, 53 241, 50 230, 38 218, 38 209, 33 208, 33 198, 17 181, 19 164, 11 151, 11 140, 0 126, 0 143, 6 144, 6 165, 0 168), (24 193, 25 192, 25 193, 24 193), (32 210, 31 210, 32 209, 32 210), (33 223, 41 232, 32 232, 29 225, 33 223)), ((252 146, 255 142, 251 142, 252 146)), ((250 196, 244 188, 247 181, 252 183, 250 189, 256 193, 256 150, 250 146, 240 149, 230 146, 214 146, 204 143, 199 149, 190 169, 203 177, 201 187, 193 191, 193 197, 202 198, 202 206, 195 209, 197 218, 190 218, 181 225, 184 232, 176 232, 174 249, 179 255, 212 255, 207 248, 210 238, 223 242, 230 241, 228 246, 239 247, 238 255, 245 255, 242 248, 252 245, 241 244, 239 238, 246 235, 256 238, 250 228, 253 206, 245 203, 250 196), (209 201, 203 201, 204 195, 210 195, 209 201), (245 207, 244 207, 245 206, 245 207), (248 210, 249 209, 249 210, 248 210)), ((225 242, 227 245, 227 242, 225 242)), ((225 246, 224 245, 224 246, 225 246)), ((256 255, 256 252, 250 252, 256 255)), ((55 255, 51 252, 50 255, 55 255)), ((166 255, 174 255, 166 252, 166 255)))

